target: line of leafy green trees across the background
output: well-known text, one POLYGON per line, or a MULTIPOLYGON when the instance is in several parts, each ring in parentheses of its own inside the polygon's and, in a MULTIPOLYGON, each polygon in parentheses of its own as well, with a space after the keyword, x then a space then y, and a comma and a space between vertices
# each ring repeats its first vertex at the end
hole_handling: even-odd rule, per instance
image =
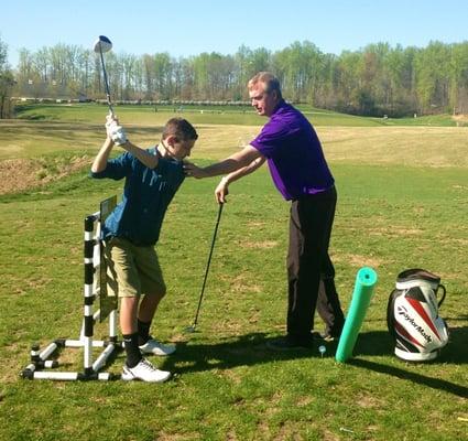
MULTIPOLYGON (((0 41, 0 68, 2 47, 0 41)), ((116 100, 244 101, 248 79, 271 71, 293 103, 366 116, 468 112, 468 42, 434 41, 426 47, 376 43, 335 55, 304 41, 275 52, 242 45, 235 54, 175 58, 167 52, 137 56, 111 51, 105 60, 116 100)), ((22 49, 12 74, 15 96, 105 97, 100 60, 76 45, 22 49)))

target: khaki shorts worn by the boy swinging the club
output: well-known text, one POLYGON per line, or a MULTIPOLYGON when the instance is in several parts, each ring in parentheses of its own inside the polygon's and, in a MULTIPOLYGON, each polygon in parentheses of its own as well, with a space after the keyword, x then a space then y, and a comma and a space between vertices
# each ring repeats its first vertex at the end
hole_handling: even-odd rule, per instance
POLYGON ((105 248, 109 295, 164 295, 166 286, 154 247, 112 237, 105 248))

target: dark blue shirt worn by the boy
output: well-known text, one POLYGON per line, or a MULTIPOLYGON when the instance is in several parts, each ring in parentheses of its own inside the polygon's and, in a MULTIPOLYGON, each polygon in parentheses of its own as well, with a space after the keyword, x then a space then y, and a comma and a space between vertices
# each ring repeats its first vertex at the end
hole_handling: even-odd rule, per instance
MULTIPOLYGON (((156 154, 156 150, 150 149, 156 154)), ((182 161, 159 158, 155 169, 149 169, 131 153, 109 160, 96 179, 126 179, 121 202, 106 219, 102 238, 123 237, 138 246, 154 245, 174 194, 185 179, 182 161)))

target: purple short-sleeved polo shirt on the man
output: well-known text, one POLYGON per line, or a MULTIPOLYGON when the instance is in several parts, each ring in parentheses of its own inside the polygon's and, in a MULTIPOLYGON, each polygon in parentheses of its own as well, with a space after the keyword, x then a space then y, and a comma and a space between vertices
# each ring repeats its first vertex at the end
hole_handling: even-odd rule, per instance
POLYGON ((268 159, 273 182, 286 201, 334 185, 317 133, 305 116, 284 100, 250 144, 268 159))

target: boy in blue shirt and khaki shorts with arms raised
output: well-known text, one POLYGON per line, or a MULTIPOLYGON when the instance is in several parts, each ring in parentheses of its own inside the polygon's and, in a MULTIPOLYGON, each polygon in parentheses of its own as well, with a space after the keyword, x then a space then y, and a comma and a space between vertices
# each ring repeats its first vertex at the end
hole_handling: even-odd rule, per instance
POLYGON ((127 354, 122 379, 161 383, 171 373, 157 369, 142 355, 164 356, 175 351, 174 345, 161 344, 150 335, 157 305, 166 293, 154 245, 167 206, 185 179, 182 160, 191 154, 198 135, 187 120, 173 118, 165 125, 160 144, 144 150, 128 141, 113 115, 107 117, 106 129, 91 176, 126 179, 122 200, 102 225, 112 279, 109 288, 120 298, 127 354), (110 160, 116 144, 126 152, 110 160))

